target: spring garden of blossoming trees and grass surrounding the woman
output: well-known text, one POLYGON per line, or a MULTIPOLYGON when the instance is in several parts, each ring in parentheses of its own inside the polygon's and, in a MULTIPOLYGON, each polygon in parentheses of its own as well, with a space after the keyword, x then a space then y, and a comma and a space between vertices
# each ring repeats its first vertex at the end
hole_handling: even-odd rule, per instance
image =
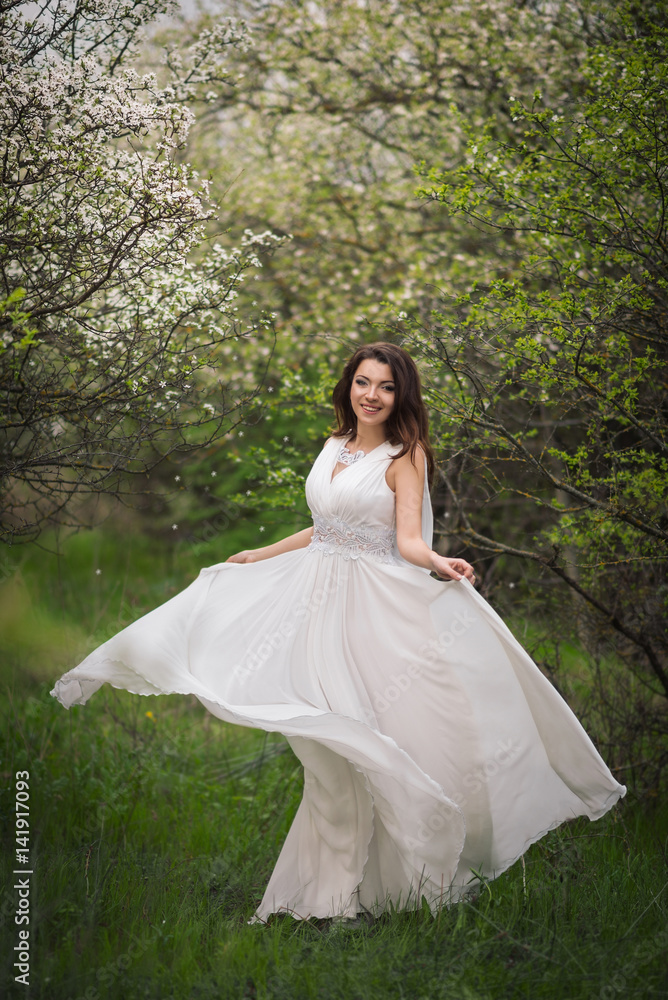
POLYGON ((0 9, 6 995, 668 996, 668 5, 0 9), (438 547, 629 793, 436 918, 249 927, 301 796, 284 741, 48 692, 309 523, 377 339, 422 373, 438 547))

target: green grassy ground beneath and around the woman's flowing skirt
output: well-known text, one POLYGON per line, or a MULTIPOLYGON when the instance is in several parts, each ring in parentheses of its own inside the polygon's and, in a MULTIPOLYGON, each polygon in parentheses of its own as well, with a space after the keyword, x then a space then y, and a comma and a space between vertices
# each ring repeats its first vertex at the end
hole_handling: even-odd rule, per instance
POLYGON ((92 638, 158 603, 152 581, 183 583, 186 570, 156 573, 148 550, 130 564, 119 547, 96 544, 70 550, 60 574, 48 559, 24 560, 22 581, 9 578, 0 602, 3 995, 668 997, 668 810, 659 800, 629 796, 595 824, 561 827, 524 866, 436 918, 249 926, 301 796, 299 765, 280 737, 220 723, 194 699, 104 688, 65 712, 49 697, 92 638), (99 564, 105 572, 95 574, 99 564), (29 987, 12 969, 14 776, 23 770, 29 987))

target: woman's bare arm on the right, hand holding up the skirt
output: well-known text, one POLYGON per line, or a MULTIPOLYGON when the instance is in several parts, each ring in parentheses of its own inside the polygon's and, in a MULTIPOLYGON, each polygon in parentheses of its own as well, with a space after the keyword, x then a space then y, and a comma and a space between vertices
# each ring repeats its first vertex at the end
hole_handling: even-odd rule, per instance
POLYGON ((473 582, 473 566, 465 559, 451 559, 430 549, 422 537, 422 497, 424 493, 424 452, 416 449, 417 466, 409 453, 395 458, 390 466, 388 485, 394 489, 397 513, 397 548, 408 562, 431 569, 440 577, 473 582))

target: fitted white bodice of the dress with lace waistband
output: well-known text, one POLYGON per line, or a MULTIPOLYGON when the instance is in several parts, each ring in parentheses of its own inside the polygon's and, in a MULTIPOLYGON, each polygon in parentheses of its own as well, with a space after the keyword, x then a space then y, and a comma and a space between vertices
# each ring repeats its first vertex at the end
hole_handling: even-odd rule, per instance
MULTIPOLYGON (((332 478, 341 444, 341 438, 326 442, 306 480, 306 501, 315 528, 312 545, 345 558, 365 555, 381 562, 405 564, 396 545, 395 495, 385 480, 388 466, 401 446, 385 441, 332 478)), ((429 548, 432 532, 425 468, 422 537, 429 548)))

